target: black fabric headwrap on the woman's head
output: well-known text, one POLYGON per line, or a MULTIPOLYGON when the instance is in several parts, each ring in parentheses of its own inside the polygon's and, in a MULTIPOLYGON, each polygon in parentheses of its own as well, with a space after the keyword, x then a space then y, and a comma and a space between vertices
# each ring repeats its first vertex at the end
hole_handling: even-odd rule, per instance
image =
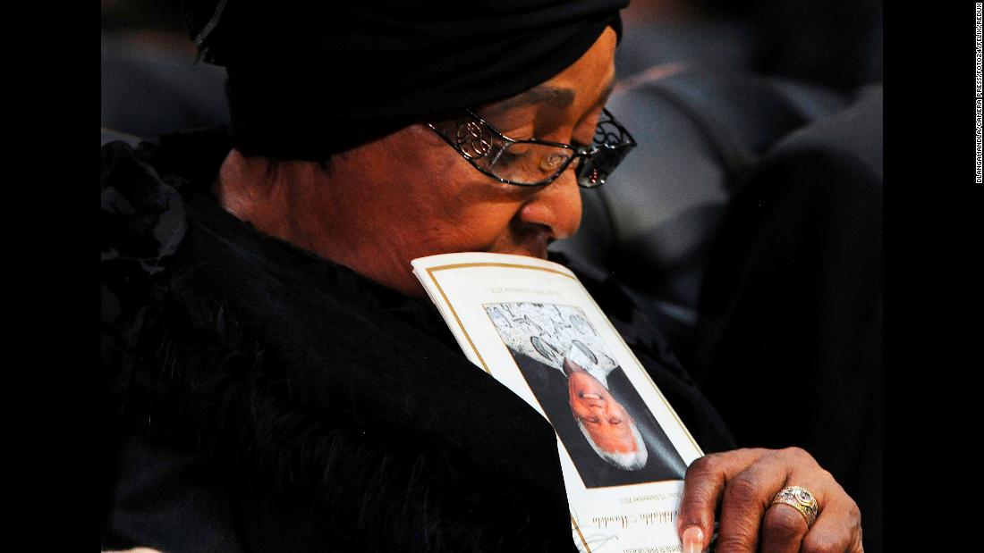
POLYGON ((605 27, 621 34, 628 3, 185 0, 185 14, 204 59, 228 72, 236 147, 325 159, 549 80, 605 27))

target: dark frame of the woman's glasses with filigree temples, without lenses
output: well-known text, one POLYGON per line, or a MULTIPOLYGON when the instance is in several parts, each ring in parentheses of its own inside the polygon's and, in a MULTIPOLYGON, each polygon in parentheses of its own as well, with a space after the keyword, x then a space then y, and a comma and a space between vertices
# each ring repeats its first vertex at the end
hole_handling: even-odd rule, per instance
MULTIPOLYGON (((498 129, 496 129, 494 125, 492 125, 488 121, 485 121, 480 115, 474 113, 469 109, 465 109, 463 111, 468 115, 468 117, 472 118, 473 120, 481 124, 481 126, 487 129, 492 135, 497 136, 498 138, 506 142, 506 145, 503 146, 500 149, 499 153, 496 155, 496 159, 493 160, 493 163, 495 163, 495 161, 499 159, 499 156, 502 155, 502 153, 506 151, 508 147, 517 143, 542 144, 542 145, 553 146, 553 147, 561 147, 564 149, 569 149, 574 151, 574 154, 571 157, 569 157, 567 161, 565 161, 564 164, 559 169, 557 169, 557 171, 551 177, 547 178, 546 180, 538 183, 518 183, 516 181, 511 181, 509 179, 503 179, 502 177, 493 174, 491 171, 484 169, 483 167, 478 165, 478 163, 475 161, 476 159, 484 159, 488 157, 489 152, 492 151, 491 143, 485 144, 488 147, 488 149, 481 155, 470 155, 468 154, 468 152, 464 151, 464 149, 461 147, 462 142, 455 143, 455 141, 452 140, 452 138, 446 136, 445 133, 443 133, 440 129, 438 129, 433 123, 427 124, 427 126, 430 127, 430 129, 434 131, 434 133, 436 133, 437 136, 443 138, 444 141, 448 142, 448 144, 451 147, 455 148, 455 151, 461 154, 461 157, 463 157, 472 167, 480 171, 482 174, 491 177, 492 179, 495 179, 500 183, 513 185, 517 187, 545 187, 550 183, 556 181, 558 178, 560 178, 560 176, 563 175, 565 171, 567 171, 567 169, 571 166, 572 163, 574 163, 574 160, 576 159, 584 159, 588 162, 591 162, 593 156, 602 150, 625 149, 626 150, 625 153, 622 154, 622 159, 624 159, 625 156, 628 155, 629 151, 631 151, 632 148, 638 145, 638 142, 636 142, 636 139, 632 137, 629 131, 624 126, 622 126, 622 124, 619 123, 617 119, 615 119, 615 116, 613 116, 610 111, 608 111, 605 108, 601 109, 601 113, 604 117, 607 118, 607 120, 598 121, 598 124, 594 129, 594 135, 595 137, 597 137, 600 131, 603 133, 603 136, 607 138, 608 136, 611 135, 611 133, 608 132, 607 130, 602 129, 602 125, 611 124, 615 127, 615 129, 618 130, 620 140, 618 143, 612 144, 609 142, 598 143, 598 141, 595 139, 589 146, 565 144, 563 142, 541 140, 538 138, 528 138, 528 139, 510 138, 504 135, 498 129)), ((456 121, 456 123, 457 123, 457 128, 456 128, 456 136, 457 136, 461 134, 462 128, 467 127, 469 124, 473 124, 474 121, 458 120, 456 121)), ((474 137, 474 138, 482 138, 482 137, 474 137)), ((619 163, 622 162, 622 159, 619 159, 619 163)), ((616 164, 616 167, 617 166, 618 165, 616 164)), ((612 171, 614 171, 614 167, 612 168, 612 171)), ((611 175, 612 171, 609 171, 607 174, 604 175, 604 178, 599 179, 599 181, 596 184, 592 184, 592 185, 585 185, 581 182, 581 179, 578 178, 577 179, 578 186, 584 189, 596 189, 601 185, 605 184, 605 180, 609 175, 611 175)))

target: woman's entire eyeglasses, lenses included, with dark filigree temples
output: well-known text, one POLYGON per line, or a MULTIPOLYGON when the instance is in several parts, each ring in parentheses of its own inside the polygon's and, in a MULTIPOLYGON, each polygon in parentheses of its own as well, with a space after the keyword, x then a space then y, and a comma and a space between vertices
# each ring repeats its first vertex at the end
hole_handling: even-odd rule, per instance
POLYGON ((475 169, 508 185, 538 187, 549 185, 573 163, 578 186, 600 187, 622 162, 636 140, 625 127, 601 110, 601 119, 589 146, 547 140, 509 138, 475 113, 442 123, 428 123, 461 157, 475 169))

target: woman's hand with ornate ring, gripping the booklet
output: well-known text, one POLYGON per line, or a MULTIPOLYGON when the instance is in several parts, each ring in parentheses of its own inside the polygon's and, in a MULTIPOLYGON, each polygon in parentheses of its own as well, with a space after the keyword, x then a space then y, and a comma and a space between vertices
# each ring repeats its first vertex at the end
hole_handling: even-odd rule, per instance
POLYGON ((707 547, 718 505, 716 553, 863 552, 857 504, 799 448, 739 449, 691 464, 678 520, 684 553, 707 547), (812 527, 795 508, 772 505, 779 490, 793 485, 817 500, 820 514, 812 527))

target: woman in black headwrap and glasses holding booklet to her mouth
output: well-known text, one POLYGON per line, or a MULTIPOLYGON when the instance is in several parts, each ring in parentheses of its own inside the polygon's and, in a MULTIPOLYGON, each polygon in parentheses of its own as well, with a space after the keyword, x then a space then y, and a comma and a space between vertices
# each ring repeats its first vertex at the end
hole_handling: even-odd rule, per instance
MULTIPOLYGON (((104 547, 572 550, 552 428, 464 359, 409 261, 545 257, 578 229, 579 186, 631 147, 595 134, 625 3, 263 4, 189 3, 231 142, 103 148, 104 547)), ((631 304, 603 304, 720 452, 687 472, 685 551, 715 521, 718 551, 861 550, 830 473, 734 450, 631 304), (790 485, 815 522, 772 503, 790 485)))

